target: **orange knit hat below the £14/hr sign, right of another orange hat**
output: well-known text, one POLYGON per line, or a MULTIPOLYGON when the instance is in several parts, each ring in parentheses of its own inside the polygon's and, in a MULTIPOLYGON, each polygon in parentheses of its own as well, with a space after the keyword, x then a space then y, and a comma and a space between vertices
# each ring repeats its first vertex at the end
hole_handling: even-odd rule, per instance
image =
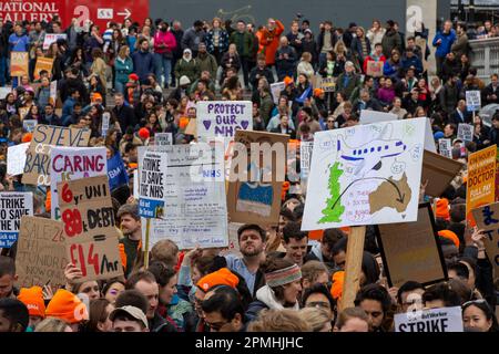
POLYGON ((50 300, 45 315, 69 324, 89 320, 86 305, 75 294, 64 289, 59 289, 50 300))

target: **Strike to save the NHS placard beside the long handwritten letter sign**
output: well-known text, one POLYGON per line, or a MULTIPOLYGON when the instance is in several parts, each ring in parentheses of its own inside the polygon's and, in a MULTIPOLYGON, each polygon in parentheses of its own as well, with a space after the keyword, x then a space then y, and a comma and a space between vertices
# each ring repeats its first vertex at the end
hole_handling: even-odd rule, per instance
POLYGON ((166 197, 167 156, 162 152, 145 152, 139 164, 139 215, 162 219, 166 197))

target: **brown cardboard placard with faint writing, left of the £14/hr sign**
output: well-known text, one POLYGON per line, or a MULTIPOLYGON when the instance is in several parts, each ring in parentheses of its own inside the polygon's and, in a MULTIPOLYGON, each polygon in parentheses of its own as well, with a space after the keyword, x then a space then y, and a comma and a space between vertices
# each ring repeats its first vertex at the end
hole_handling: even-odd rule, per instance
POLYGON ((65 285, 65 256, 63 225, 47 218, 23 216, 19 229, 16 271, 18 287, 65 285))

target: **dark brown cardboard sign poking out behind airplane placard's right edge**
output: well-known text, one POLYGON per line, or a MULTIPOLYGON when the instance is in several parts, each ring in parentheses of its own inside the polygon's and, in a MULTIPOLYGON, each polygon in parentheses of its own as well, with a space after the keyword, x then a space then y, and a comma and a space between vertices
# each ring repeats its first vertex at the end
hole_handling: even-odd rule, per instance
POLYGON ((428 181, 425 194, 440 197, 462 167, 459 162, 425 150, 421 176, 421 183, 428 181))

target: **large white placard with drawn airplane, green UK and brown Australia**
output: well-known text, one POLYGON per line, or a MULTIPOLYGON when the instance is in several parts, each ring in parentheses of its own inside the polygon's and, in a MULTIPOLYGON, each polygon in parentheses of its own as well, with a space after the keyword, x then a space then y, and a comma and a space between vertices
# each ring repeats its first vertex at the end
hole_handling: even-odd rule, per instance
POLYGON ((426 119, 315 134, 303 230, 417 220, 426 119))

